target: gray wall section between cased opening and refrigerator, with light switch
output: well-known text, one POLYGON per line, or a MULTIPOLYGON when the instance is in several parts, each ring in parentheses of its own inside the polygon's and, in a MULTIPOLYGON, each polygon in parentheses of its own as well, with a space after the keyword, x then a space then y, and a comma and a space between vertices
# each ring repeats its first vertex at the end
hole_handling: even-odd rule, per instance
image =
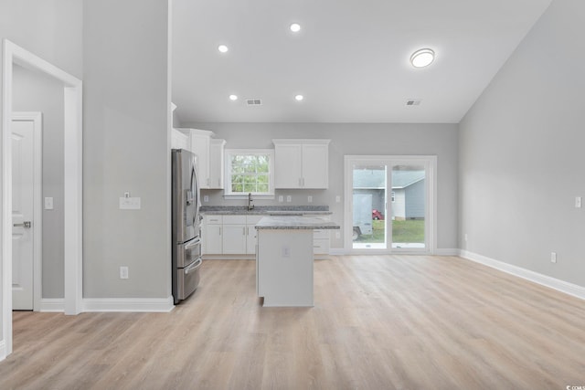
POLYGON ((168 16, 167 1, 84 2, 84 298, 171 294, 168 16), (124 192, 142 209, 120 210, 124 192))

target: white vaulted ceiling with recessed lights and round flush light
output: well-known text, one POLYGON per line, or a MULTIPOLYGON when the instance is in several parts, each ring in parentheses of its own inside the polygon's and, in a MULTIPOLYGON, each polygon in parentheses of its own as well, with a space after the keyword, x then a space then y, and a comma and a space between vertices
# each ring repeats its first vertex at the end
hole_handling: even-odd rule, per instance
POLYGON ((456 123, 550 1, 174 0, 173 102, 185 123, 456 123))

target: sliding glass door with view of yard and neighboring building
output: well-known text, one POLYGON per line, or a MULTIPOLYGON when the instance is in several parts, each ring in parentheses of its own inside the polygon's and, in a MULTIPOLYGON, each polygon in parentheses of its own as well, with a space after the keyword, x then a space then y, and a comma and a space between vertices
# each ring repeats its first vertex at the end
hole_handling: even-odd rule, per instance
POLYGON ((434 156, 346 156, 346 248, 431 252, 435 165, 434 156))

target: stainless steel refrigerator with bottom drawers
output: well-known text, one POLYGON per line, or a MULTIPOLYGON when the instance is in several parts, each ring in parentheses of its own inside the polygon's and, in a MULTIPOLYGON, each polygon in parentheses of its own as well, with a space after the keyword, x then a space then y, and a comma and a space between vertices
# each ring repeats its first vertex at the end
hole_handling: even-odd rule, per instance
POLYGON ((195 154, 172 151, 173 197, 173 298, 185 300, 199 284, 201 219, 195 154))

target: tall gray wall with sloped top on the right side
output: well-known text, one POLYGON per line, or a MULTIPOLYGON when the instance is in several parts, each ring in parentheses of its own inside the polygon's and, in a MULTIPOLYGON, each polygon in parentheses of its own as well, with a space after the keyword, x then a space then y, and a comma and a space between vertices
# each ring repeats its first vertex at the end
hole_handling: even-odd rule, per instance
POLYGON ((460 128, 462 248, 580 286, 583 15, 582 0, 553 1, 460 128))

